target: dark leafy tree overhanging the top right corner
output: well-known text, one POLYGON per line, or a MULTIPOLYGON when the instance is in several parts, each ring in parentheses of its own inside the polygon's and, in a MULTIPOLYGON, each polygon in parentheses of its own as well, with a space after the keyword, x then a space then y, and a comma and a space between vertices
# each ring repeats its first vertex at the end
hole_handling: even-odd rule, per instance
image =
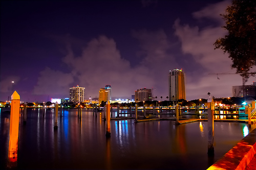
POLYGON ((255 73, 249 72, 256 60, 256 1, 233 0, 225 14, 221 14, 226 22, 223 26, 228 31, 225 38, 214 43, 215 49, 221 48, 229 54, 237 73, 245 78, 255 73))

